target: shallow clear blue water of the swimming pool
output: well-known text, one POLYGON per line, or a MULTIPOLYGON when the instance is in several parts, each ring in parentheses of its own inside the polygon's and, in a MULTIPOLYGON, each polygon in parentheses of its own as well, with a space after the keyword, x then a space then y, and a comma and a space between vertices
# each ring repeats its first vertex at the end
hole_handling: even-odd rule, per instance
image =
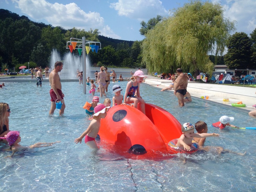
MULTIPOLYGON (((127 82, 120 82, 124 94, 127 82)), ((170 92, 141 85, 141 96, 174 115, 181 123, 199 120, 208 124, 209 133, 220 138, 206 139, 206 146, 222 146, 245 156, 214 151, 193 155, 177 154, 162 160, 124 159, 111 150, 101 148, 94 154, 87 145, 74 139, 90 121, 82 108, 91 94, 82 93, 78 82, 63 82, 65 114, 58 109, 49 117, 51 106, 48 83, 6 83, 1 89, 1 101, 10 105, 10 130, 20 131, 21 145, 54 142, 51 147, 20 151, 13 158, 6 144, 0 143, 0 183, 2 191, 255 191, 256 144, 255 130, 223 130, 210 126, 222 115, 235 117, 234 125, 255 127, 256 120, 237 108, 226 108, 209 101, 194 99, 180 108, 170 92), (186 157, 183 164, 182 158, 186 157)), ((113 94, 110 83, 108 97, 113 94)), ((99 93, 96 93, 98 96, 99 93)), ((104 97, 103 97, 104 98, 104 97)), ((102 98, 100 102, 103 103, 102 98)), ((168 125, 163 126, 168 128, 168 125)), ((167 157, 166 157, 167 156, 167 157)))

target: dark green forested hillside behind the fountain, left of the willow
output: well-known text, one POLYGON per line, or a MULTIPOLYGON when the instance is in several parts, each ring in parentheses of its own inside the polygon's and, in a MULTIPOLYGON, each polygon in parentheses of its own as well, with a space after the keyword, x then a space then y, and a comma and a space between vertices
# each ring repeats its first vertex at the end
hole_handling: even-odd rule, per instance
MULTIPOLYGON (((25 65, 30 68, 46 67, 53 49, 61 56, 69 52, 66 42, 71 37, 101 42, 102 50, 96 54, 90 52, 94 66, 143 67, 141 64, 140 41, 123 41, 100 35, 98 29, 89 31, 73 28, 65 30, 61 26, 53 27, 29 20, 8 10, 0 9, 0 66, 5 68, 25 65)), ((74 54, 79 55, 77 52, 74 54)), ((145 66, 144 66, 145 67, 145 66)))

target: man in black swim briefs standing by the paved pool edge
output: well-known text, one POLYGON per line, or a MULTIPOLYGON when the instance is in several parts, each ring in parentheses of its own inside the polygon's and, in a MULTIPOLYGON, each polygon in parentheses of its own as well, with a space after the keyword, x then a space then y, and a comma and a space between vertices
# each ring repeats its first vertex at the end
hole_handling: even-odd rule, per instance
POLYGON ((174 83, 174 95, 178 98, 178 103, 181 107, 184 106, 184 97, 187 93, 188 78, 183 74, 182 69, 178 68, 176 70, 178 74, 177 79, 174 83))

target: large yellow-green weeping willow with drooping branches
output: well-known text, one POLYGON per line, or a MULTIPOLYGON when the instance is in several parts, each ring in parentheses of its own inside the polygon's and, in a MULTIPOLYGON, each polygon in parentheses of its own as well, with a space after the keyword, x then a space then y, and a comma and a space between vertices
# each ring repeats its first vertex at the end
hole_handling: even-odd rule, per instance
POLYGON ((209 53, 222 55, 234 22, 223 16, 219 3, 186 3, 149 30, 142 43, 142 57, 149 71, 180 67, 198 74, 211 73, 209 53))

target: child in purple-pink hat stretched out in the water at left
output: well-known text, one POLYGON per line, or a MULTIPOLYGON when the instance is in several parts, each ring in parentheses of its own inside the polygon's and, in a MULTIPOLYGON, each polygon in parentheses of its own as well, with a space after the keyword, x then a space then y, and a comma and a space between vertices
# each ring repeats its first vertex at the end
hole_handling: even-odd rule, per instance
POLYGON ((10 157, 12 157, 14 153, 20 149, 48 147, 48 146, 52 146, 52 144, 60 143, 60 141, 57 141, 53 143, 36 143, 28 147, 22 146, 19 144, 19 142, 21 141, 19 131, 10 131, 9 133, 7 133, 7 135, 5 135, 5 137, 0 137, 0 139, 6 139, 7 142, 9 143, 10 149, 13 151, 10 157))

